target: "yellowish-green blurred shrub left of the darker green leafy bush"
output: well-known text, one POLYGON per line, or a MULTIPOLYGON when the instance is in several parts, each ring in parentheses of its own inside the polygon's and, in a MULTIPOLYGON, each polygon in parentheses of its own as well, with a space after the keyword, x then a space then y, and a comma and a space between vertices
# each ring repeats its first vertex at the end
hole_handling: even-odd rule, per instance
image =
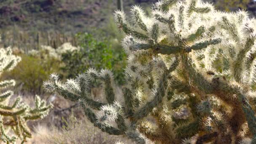
POLYGON ((4 78, 17 80, 16 90, 42 94, 43 81, 48 75, 59 72, 59 61, 56 54, 45 48, 32 50, 29 54, 20 53, 21 61, 12 71, 3 73, 4 78))

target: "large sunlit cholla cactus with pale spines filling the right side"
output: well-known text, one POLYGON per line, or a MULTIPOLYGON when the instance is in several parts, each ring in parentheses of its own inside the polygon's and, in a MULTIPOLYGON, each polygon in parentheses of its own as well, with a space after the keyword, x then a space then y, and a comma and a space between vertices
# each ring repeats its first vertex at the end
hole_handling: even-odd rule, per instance
POLYGON ((116 11, 129 55, 123 101, 108 70, 66 83, 51 75, 45 87, 77 101, 102 131, 137 144, 255 144, 256 19, 247 15, 200 0, 160 0, 151 17, 135 6, 130 23, 116 11), (91 97, 95 80, 106 101, 91 97))

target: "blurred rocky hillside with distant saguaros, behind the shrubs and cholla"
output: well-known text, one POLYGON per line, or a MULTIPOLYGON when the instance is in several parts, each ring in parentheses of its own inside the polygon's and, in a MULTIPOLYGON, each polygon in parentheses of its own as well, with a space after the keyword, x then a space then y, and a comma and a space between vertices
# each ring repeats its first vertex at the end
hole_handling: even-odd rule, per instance
MULTIPOLYGON (((123 1, 126 13, 129 13, 132 5, 141 5, 147 13, 157 0, 123 1)), ((205 1, 216 4, 217 9, 236 11, 242 7, 249 10, 251 16, 256 15, 256 2, 253 0, 205 1)), ((102 32, 99 29, 115 33, 117 29, 112 14, 117 9, 116 2, 117 0, 0 0, 0 46, 31 49, 42 44, 55 47, 67 41, 75 44, 74 35, 77 32, 90 32, 93 28, 100 35, 102 32)))

